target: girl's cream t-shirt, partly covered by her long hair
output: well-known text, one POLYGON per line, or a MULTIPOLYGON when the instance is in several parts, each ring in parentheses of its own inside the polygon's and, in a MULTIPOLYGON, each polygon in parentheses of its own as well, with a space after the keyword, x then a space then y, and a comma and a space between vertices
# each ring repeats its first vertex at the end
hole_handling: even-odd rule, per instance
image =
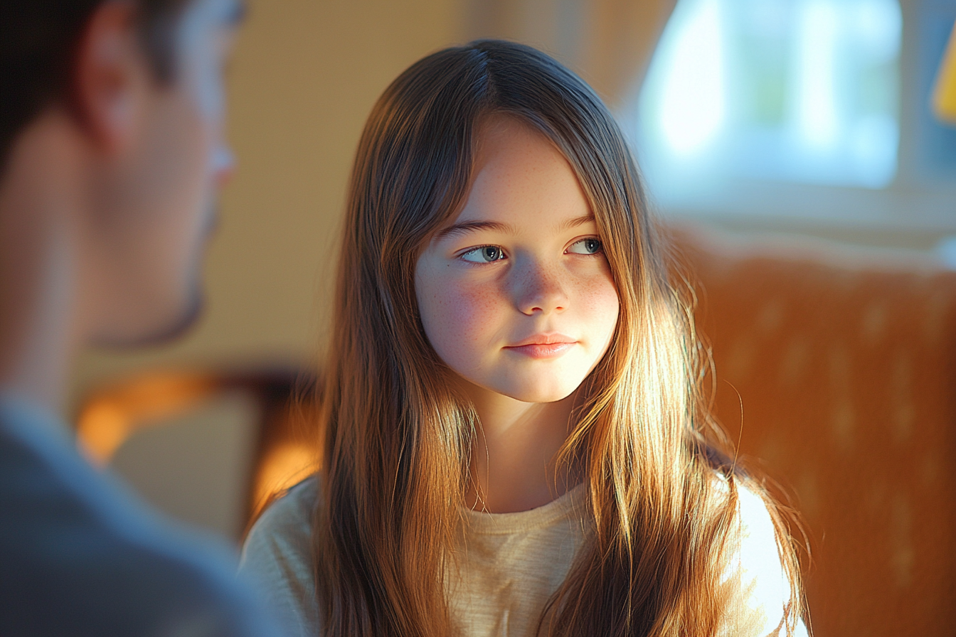
MULTIPOLYGON (((312 513, 317 478, 277 500, 252 526, 240 572, 265 586, 267 602, 294 637, 321 634, 315 600, 312 513)), ((462 637, 532 637, 548 599, 564 581, 590 524, 578 485, 521 513, 464 511, 458 567, 449 573, 448 604, 462 637)), ((726 579, 740 595, 727 637, 775 635, 790 588, 763 501, 740 490, 739 533, 726 579)), ((781 630, 780 634, 785 631, 781 630)), ((806 635, 797 626, 798 635, 806 635)))

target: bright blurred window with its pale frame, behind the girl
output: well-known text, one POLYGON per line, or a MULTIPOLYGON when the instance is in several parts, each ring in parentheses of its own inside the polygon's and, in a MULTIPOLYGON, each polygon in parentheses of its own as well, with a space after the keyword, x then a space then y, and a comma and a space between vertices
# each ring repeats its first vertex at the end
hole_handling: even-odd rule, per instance
POLYGON ((620 114, 652 196, 956 228, 956 130, 928 109, 954 17, 956 0, 680 0, 620 114))

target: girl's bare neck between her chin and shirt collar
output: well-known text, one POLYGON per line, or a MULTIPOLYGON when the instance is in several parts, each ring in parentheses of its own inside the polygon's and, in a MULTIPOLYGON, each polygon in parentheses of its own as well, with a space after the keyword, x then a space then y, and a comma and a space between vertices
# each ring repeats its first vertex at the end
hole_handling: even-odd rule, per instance
POLYGON ((481 421, 471 452, 466 506, 513 513, 543 506, 580 481, 576 467, 558 466, 571 431, 575 394, 553 403, 525 403, 472 387, 481 421))

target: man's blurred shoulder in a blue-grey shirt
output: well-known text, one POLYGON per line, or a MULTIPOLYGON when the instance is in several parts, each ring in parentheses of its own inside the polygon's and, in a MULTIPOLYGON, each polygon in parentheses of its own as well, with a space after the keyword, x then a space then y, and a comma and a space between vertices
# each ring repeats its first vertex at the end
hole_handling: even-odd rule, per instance
POLYGON ((224 546, 153 514, 29 419, 0 409, 0 634, 255 634, 235 629, 260 620, 224 546))

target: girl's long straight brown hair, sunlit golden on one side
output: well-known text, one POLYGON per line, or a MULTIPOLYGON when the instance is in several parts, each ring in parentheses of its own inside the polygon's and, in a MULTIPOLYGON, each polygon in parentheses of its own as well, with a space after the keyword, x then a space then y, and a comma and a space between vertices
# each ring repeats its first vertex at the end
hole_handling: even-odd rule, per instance
MULTIPOLYGON (((586 468, 594 532, 544 610, 548 635, 715 635, 737 486, 709 416, 706 355, 671 285, 638 169, 614 118, 544 53, 485 40, 412 65, 366 123, 352 173, 326 368, 316 582, 327 635, 452 632, 445 573, 476 414, 429 345, 414 288, 418 255, 467 197, 483 117, 550 138, 597 221, 617 286, 612 345, 584 381, 561 457, 586 468)), ((792 584, 785 624, 801 611, 792 584)))

